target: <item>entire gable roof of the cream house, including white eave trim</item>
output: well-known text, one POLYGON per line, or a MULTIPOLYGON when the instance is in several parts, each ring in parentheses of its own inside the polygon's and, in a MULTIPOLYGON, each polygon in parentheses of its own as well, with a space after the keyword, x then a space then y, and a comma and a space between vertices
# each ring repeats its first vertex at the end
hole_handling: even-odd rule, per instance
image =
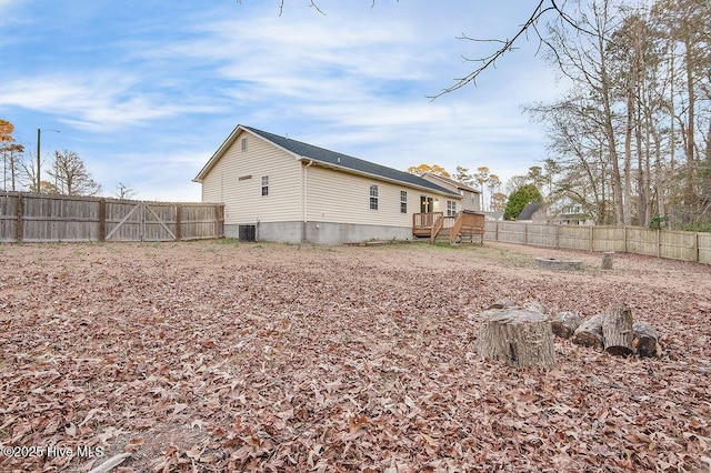
POLYGON ((461 199, 461 195, 451 192, 433 182, 420 178, 419 175, 411 174, 404 171, 398 171, 397 169, 388 168, 374 162, 365 161, 359 158, 353 158, 348 154, 339 153, 336 151, 327 150, 324 148, 314 147, 301 141, 292 140, 291 138, 280 137, 278 134, 270 133, 268 131, 258 130, 252 127, 237 125, 230 137, 220 145, 218 151, 210 158, 210 161, 202 168, 200 173, 193 179, 196 182, 202 182, 202 179, 212 169, 214 163, 222 157, 227 149, 234 142, 240 131, 247 131, 256 134, 272 144, 281 148, 282 150, 293 154, 299 160, 310 160, 318 162, 329 168, 338 169, 346 172, 356 174, 364 174, 374 178, 379 178, 385 181, 394 181, 403 184, 409 184, 418 188, 429 189, 431 191, 457 197, 461 199))

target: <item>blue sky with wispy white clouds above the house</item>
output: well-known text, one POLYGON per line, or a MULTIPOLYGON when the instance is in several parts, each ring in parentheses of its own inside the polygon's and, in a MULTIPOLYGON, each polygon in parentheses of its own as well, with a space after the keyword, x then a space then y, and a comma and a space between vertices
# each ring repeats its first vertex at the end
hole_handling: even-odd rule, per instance
POLYGON ((520 107, 554 99, 537 41, 430 101, 537 2, 0 0, 0 118, 29 150, 73 150, 104 195, 199 201, 191 182, 239 123, 405 170, 545 157, 520 107))

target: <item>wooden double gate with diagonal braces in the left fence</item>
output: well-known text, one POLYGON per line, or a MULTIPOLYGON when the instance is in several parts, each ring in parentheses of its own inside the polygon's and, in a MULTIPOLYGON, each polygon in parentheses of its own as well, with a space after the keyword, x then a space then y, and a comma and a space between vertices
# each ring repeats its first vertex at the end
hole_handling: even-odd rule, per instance
POLYGON ((177 241, 178 205, 160 202, 107 202, 107 241, 177 241))

